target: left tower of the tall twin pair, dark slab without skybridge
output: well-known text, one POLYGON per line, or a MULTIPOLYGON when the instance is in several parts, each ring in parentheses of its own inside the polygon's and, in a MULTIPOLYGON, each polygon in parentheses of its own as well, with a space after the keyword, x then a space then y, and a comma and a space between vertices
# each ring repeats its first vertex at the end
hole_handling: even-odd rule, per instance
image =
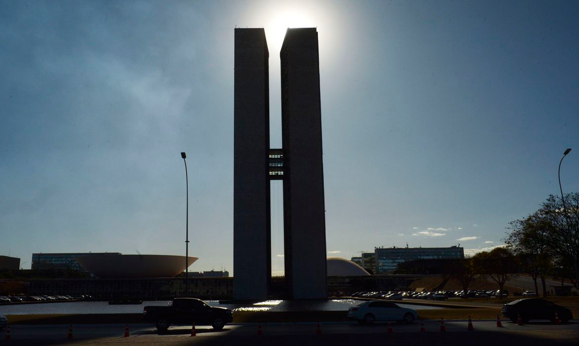
POLYGON ((263 29, 235 29, 233 295, 267 299, 272 277, 269 51, 263 29))

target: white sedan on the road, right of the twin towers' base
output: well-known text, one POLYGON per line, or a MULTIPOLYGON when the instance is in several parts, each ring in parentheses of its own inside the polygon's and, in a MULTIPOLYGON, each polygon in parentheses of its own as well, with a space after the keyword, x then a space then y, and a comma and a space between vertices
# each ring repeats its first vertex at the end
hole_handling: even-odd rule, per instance
POLYGON ((351 307, 348 310, 348 318, 368 324, 374 321, 412 323, 418 318, 418 314, 412 309, 401 308, 390 301, 371 300, 351 307))

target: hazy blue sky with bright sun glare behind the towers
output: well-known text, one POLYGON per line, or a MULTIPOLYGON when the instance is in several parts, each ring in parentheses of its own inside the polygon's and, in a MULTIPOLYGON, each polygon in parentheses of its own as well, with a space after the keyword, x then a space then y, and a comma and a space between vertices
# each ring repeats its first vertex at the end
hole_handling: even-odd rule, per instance
MULTIPOLYGON (((328 255, 500 245, 579 190, 571 1, 0 1, 0 255, 184 255, 233 269, 233 30, 317 27, 328 255)), ((281 187, 272 264, 283 270, 281 187)))

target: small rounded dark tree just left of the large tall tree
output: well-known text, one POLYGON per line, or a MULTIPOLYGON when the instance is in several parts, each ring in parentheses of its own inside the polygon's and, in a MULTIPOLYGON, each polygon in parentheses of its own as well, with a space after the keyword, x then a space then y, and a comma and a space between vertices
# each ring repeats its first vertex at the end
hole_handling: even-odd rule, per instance
POLYGON ((508 279, 519 275, 520 269, 511 250, 505 247, 496 247, 490 252, 477 253, 472 256, 472 265, 475 273, 492 279, 499 285, 500 290, 503 290, 508 279))

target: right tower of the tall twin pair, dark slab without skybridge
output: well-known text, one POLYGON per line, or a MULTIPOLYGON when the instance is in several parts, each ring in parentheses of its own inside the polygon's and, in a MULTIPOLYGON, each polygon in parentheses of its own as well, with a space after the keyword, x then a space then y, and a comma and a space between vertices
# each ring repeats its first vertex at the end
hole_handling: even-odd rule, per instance
POLYGON ((327 298, 320 58, 316 28, 288 29, 281 46, 284 262, 288 295, 327 298))

